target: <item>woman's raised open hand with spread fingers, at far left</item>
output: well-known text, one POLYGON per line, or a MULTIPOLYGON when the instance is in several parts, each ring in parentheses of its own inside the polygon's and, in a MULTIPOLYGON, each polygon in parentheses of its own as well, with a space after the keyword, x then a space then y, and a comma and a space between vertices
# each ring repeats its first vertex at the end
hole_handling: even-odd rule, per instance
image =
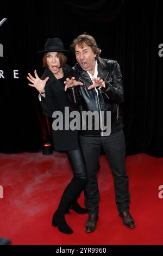
POLYGON ((33 83, 33 84, 28 83, 29 86, 36 88, 39 91, 39 93, 45 92, 45 85, 49 77, 46 77, 45 80, 41 80, 40 77, 37 75, 36 70, 34 71, 34 73, 35 73, 35 77, 33 77, 32 75, 30 75, 30 73, 28 73, 27 79, 31 83, 33 83))

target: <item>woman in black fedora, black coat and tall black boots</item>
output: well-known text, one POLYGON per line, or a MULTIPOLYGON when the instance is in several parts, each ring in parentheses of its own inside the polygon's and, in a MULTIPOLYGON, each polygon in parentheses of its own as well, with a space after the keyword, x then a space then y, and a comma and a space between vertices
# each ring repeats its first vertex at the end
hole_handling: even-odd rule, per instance
MULTIPOLYGON (((35 87, 38 90, 41 107, 45 115, 52 117, 54 111, 60 111, 64 116, 65 107, 68 107, 64 90, 65 72, 69 68, 66 65, 66 56, 70 51, 64 50, 64 45, 59 38, 53 38, 47 39, 44 50, 38 53, 44 54, 43 67, 46 69, 41 79, 37 76, 36 70, 34 71, 35 77, 28 73, 27 78, 32 83, 29 86, 35 87)), ((77 83, 82 85, 80 82, 77 83)), ((58 209, 53 215, 52 225, 54 227, 58 226, 58 229, 63 233, 72 234, 73 230, 65 221, 65 214, 69 208, 79 214, 87 212, 86 209, 81 208, 77 203, 79 194, 86 183, 86 167, 82 151, 78 145, 77 130, 55 131, 53 129, 52 132, 54 149, 66 151, 73 170, 73 179, 62 194, 58 209)))

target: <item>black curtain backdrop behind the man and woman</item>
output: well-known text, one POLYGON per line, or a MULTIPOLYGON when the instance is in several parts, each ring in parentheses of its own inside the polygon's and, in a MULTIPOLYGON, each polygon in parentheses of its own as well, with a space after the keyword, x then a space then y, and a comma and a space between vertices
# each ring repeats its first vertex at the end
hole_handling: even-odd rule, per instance
MULTIPOLYGON (((101 57, 121 65, 127 154, 163 156, 161 3, 1 0, 0 21, 8 20, 0 27, 0 151, 39 151, 49 139, 37 92, 28 86, 26 76, 34 69, 42 74, 36 51, 43 49, 47 38, 60 37, 68 48, 76 36, 87 32, 96 38, 101 57)), ((74 63, 71 56, 69 64, 74 63)))

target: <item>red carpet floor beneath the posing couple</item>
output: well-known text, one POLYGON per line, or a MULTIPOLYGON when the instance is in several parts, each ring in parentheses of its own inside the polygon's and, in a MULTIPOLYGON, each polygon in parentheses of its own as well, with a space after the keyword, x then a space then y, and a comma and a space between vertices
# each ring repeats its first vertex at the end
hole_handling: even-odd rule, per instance
MULTIPOLYGON (((85 233, 87 215, 71 211, 66 220, 74 233, 66 235, 51 225, 53 211, 72 177, 66 155, 0 154, 0 237, 9 237, 12 245, 163 245, 163 198, 158 197, 163 159, 139 154, 126 160, 130 213, 136 228, 124 227, 118 217, 112 175, 105 156, 101 156, 98 227, 85 233)), ((79 202, 84 206, 83 194, 79 202)))

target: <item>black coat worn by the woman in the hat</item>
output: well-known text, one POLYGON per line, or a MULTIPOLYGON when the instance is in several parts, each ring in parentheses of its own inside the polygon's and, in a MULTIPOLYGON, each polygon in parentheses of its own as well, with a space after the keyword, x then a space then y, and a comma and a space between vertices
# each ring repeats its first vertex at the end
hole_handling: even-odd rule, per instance
MULTIPOLYGON (((64 74, 67 68, 70 66, 64 67, 64 74)), ((68 107, 67 99, 66 99, 66 92, 64 91, 64 83, 63 81, 66 80, 64 77, 63 80, 57 80, 51 70, 48 68, 45 69, 41 79, 44 80, 46 77, 49 77, 49 80, 45 86, 45 95, 46 97, 41 96, 41 107, 43 113, 48 116, 52 117, 54 111, 61 111, 63 117, 65 117, 65 107, 68 107)), ((54 118, 53 118, 54 121, 54 118)), ((57 151, 66 151, 66 150, 76 150, 78 148, 78 132, 75 131, 65 131, 65 130, 58 130, 54 131, 52 129, 53 135, 53 144, 54 149, 57 151)))

